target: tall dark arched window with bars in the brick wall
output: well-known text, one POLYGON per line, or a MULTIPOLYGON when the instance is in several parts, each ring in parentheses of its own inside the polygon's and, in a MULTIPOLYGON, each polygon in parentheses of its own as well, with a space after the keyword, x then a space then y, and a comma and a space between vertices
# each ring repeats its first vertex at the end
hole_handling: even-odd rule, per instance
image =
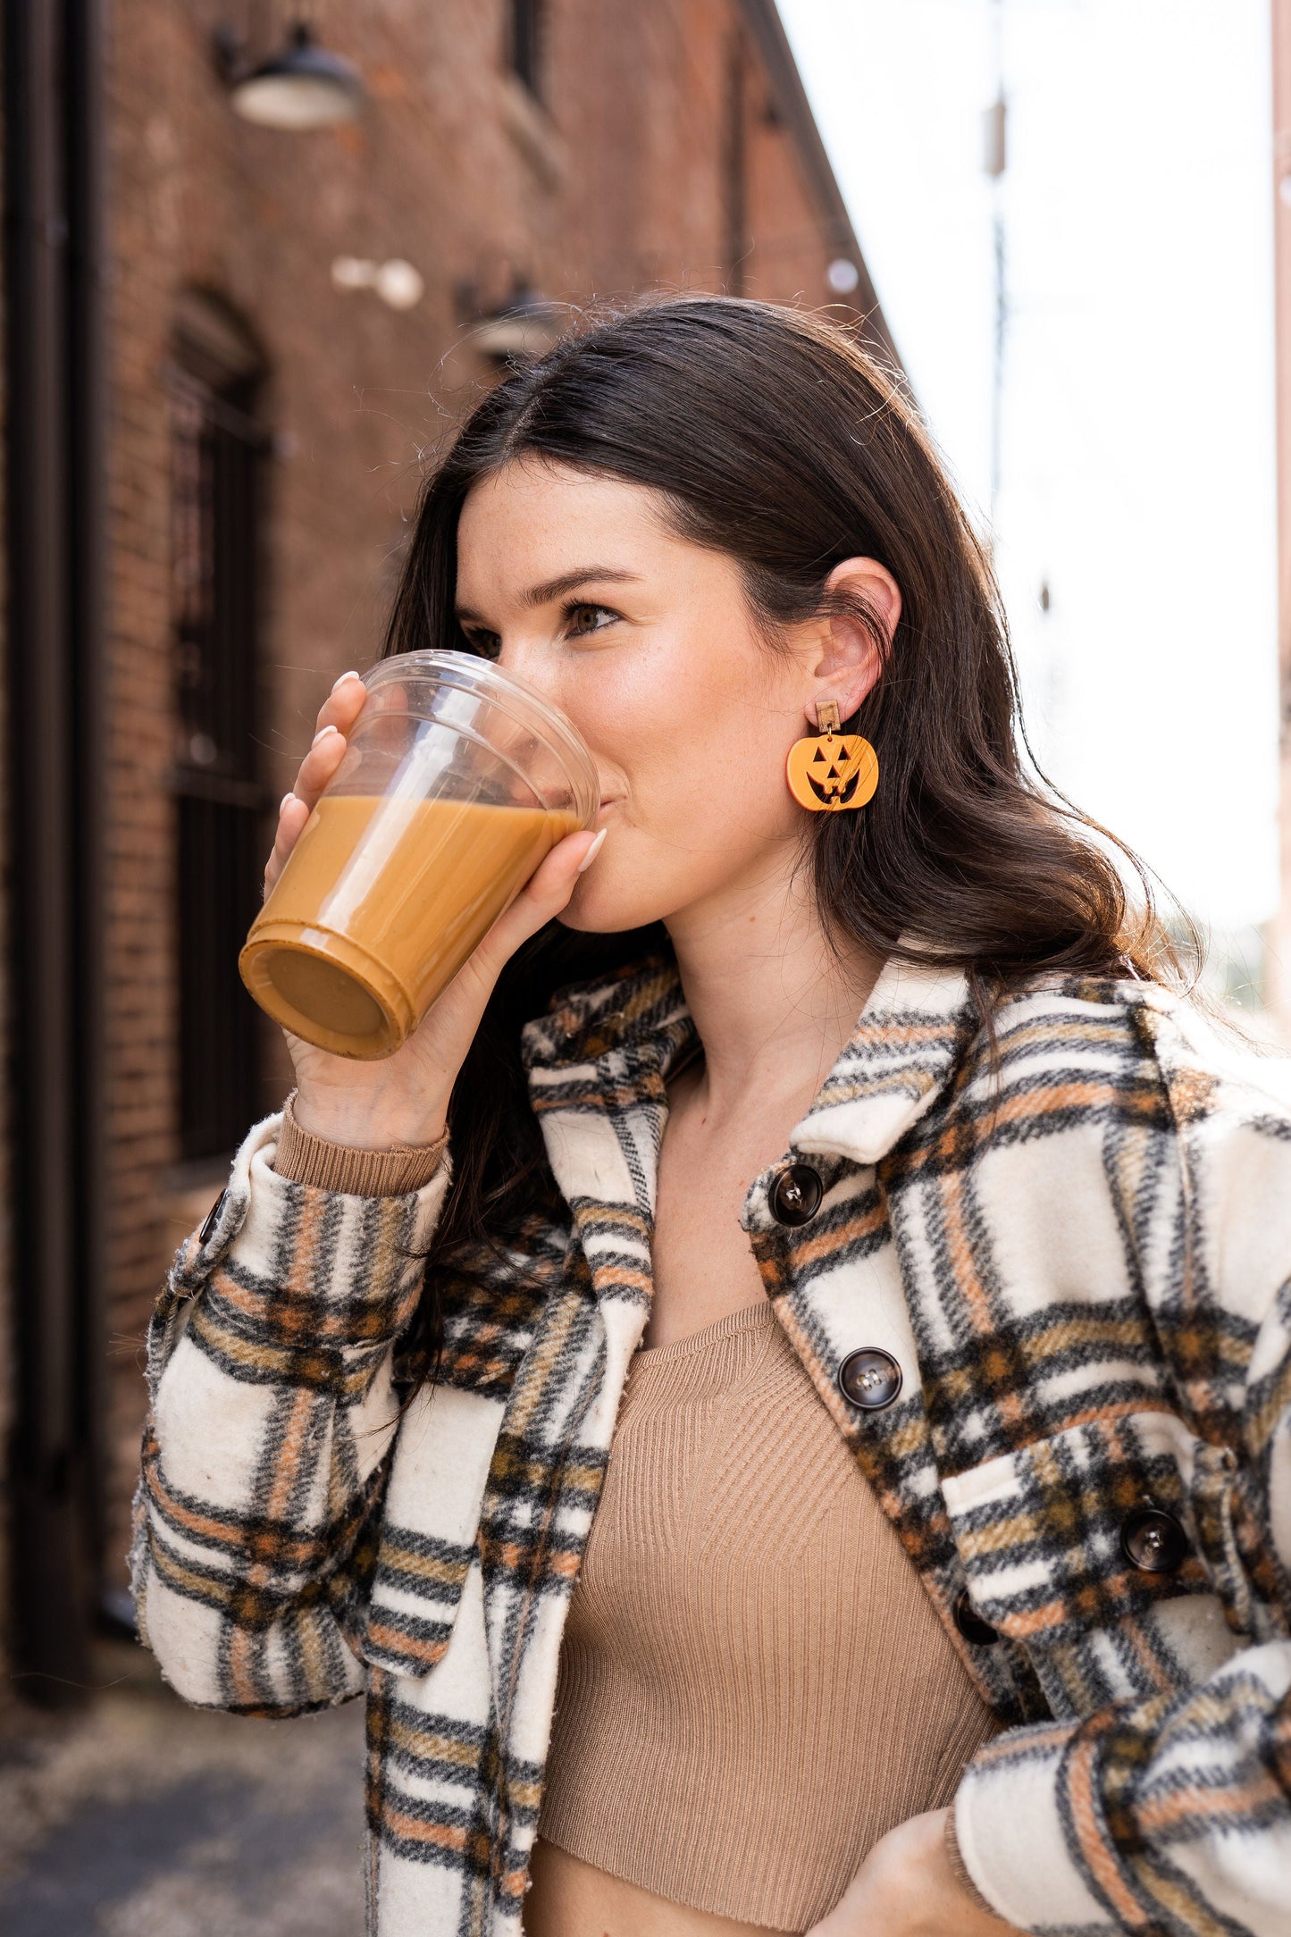
POLYGON ((238 949, 259 901, 259 473, 263 362, 223 306, 188 296, 174 366, 178 1116, 186 1162, 259 1114, 259 1025, 238 949))

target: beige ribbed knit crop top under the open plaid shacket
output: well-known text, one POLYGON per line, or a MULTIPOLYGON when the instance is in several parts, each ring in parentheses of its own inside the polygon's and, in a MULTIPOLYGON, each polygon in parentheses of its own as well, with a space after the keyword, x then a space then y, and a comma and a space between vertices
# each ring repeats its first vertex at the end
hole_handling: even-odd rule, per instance
POLYGON ((885 1830, 950 1801, 993 1730, 770 1306, 637 1352, 538 1834, 797 1931, 885 1830))

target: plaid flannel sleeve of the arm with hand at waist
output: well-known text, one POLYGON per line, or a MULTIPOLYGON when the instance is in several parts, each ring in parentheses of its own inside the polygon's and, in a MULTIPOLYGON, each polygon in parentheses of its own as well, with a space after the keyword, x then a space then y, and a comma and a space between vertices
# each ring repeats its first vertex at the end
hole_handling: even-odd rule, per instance
POLYGON ((1237 1650, 1177 1693, 995 1737, 954 1832, 981 1894, 1026 1931, 1287 1937, 1291 1114, 1233 1094, 1177 1040, 1156 1046, 1179 1203, 1144 1275, 1179 1404, 1216 1455, 1196 1532, 1237 1650))

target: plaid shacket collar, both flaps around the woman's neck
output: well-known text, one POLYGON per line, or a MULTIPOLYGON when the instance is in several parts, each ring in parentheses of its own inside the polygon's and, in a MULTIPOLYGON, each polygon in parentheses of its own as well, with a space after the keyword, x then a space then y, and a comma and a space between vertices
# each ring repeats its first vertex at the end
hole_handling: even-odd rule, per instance
MULTIPOLYGON (((852 1036, 794 1127, 794 1151, 873 1164, 950 1083, 976 1029, 966 976, 888 961, 852 1036)), ((662 1087, 697 1044, 674 961, 557 992, 523 1030, 530 1100, 550 1110, 662 1104, 662 1087)), ((652 1195, 652 1193, 650 1193, 652 1195)))

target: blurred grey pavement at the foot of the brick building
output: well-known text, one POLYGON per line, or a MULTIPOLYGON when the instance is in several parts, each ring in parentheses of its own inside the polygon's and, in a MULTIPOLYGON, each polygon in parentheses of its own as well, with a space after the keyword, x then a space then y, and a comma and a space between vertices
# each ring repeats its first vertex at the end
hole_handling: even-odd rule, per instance
POLYGON ((105 1643, 74 1716, 6 1716, 6 1937, 360 1937, 362 1703, 188 1708, 105 1643))

